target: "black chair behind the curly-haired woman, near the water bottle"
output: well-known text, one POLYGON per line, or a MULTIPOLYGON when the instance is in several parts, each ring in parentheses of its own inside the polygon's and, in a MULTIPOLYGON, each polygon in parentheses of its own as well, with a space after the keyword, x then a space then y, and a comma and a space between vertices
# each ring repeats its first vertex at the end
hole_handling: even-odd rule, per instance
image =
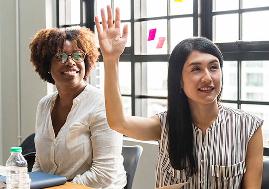
POLYGON ((20 145, 22 148, 21 154, 25 158, 28 164, 28 172, 32 171, 35 161, 35 145, 34 145, 35 133, 28 136, 20 145))

